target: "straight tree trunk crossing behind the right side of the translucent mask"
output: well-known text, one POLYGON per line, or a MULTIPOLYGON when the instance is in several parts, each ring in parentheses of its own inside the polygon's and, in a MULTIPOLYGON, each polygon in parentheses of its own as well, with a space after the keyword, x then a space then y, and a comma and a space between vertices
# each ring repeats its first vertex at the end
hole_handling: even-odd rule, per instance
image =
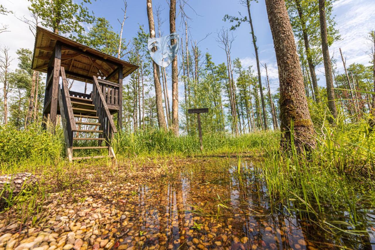
MULTIPOLYGON (((171 0, 169 5, 169 30, 176 32, 176 0, 171 0)), ((176 39, 171 39, 171 46, 176 44, 176 39)), ((177 55, 172 60, 172 131, 175 136, 179 134, 178 126, 178 66, 177 55)))

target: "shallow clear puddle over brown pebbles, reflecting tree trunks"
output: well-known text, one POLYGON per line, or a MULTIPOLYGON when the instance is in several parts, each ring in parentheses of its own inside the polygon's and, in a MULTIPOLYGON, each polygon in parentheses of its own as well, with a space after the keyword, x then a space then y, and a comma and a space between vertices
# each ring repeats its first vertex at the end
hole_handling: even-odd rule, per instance
MULTIPOLYGON (((129 190, 120 209, 119 249, 372 249, 374 232, 362 236, 323 230, 314 214, 290 212, 285 204, 270 202, 267 187, 251 162, 217 159, 189 165, 153 182, 129 190), (372 242, 372 245, 371 245, 372 242)), ((290 206, 298 207, 298 200, 290 206)), ((343 220, 344 212, 327 215, 343 220)), ((371 216, 359 214, 362 228, 371 231, 371 216)), ((374 247, 375 248, 375 247, 374 247)))

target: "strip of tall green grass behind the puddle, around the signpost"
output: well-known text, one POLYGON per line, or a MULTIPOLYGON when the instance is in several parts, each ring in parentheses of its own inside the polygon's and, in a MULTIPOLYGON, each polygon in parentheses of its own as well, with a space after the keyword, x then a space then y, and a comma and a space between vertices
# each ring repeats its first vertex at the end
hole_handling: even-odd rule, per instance
POLYGON ((199 137, 190 135, 174 136, 170 131, 140 131, 118 133, 113 140, 116 155, 134 156, 194 156, 215 155, 260 150, 275 147, 278 132, 266 131, 242 136, 228 133, 206 133, 203 135, 203 151, 199 148, 199 137))

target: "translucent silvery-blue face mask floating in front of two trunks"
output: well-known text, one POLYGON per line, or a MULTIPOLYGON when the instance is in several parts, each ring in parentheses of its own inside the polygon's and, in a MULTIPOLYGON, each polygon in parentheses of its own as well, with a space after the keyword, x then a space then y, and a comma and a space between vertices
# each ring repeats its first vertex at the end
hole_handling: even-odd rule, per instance
POLYGON ((174 57, 177 55, 180 39, 177 33, 172 33, 168 36, 158 38, 148 38, 147 47, 150 51, 151 58, 154 62, 162 67, 167 67, 171 64, 174 57), (176 43, 171 45, 171 39, 175 39, 176 43))

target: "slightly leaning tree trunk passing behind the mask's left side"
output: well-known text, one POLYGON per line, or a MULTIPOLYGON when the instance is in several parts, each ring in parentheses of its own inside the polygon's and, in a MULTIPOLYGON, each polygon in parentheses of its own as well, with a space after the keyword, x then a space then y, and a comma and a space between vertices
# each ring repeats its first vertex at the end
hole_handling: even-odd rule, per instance
MULTIPOLYGON (((147 17, 148 17, 148 27, 150 28, 150 37, 155 37, 155 24, 154 24, 154 15, 152 12, 152 0, 147 1, 147 17)), ((156 113, 157 113, 157 122, 159 128, 166 130, 165 116, 163 111, 163 101, 162 101, 162 89, 160 85, 159 77, 159 66, 153 61, 153 74, 154 74, 154 86, 155 86, 155 99, 156 99, 156 113)))

